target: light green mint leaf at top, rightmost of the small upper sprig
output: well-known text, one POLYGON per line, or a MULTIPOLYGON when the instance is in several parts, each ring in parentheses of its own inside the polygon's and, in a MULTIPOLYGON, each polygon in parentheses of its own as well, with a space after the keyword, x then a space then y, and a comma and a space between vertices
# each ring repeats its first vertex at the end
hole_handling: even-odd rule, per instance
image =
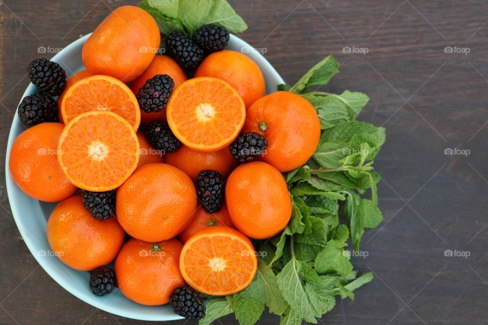
POLYGON ((248 29, 248 25, 236 14, 232 6, 226 0, 214 0, 205 24, 216 24, 225 27, 230 33, 242 33, 248 29))

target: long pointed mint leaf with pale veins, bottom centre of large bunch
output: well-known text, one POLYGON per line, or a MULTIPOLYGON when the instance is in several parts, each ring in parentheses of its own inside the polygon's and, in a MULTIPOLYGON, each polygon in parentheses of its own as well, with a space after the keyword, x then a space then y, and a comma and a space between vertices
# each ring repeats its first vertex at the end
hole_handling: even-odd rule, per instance
POLYGON ((292 306, 292 309, 295 310, 296 314, 308 322, 315 323, 315 317, 312 316, 314 310, 303 289, 300 276, 298 275, 299 270, 300 264, 295 257, 292 256, 291 260, 277 275, 278 286, 283 292, 286 302, 292 306))

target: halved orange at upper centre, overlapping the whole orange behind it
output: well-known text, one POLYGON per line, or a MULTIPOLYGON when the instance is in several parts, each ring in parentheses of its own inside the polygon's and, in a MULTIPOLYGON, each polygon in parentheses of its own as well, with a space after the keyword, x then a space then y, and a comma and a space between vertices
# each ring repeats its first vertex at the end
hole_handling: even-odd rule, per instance
POLYGON ((166 106, 174 135, 197 151, 217 151, 239 134, 246 106, 236 90, 218 78, 200 77, 180 84, 166 106))

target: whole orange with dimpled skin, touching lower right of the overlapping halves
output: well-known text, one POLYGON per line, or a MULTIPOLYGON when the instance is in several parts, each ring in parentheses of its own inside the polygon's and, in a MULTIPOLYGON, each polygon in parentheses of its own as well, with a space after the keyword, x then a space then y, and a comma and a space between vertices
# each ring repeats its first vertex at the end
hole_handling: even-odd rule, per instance
POLYGON ((117 190, 116 215, 132 237, 164 241, 185 229, 197 209, 195 186, 187 174, 168 164, 136 169, 117 190))

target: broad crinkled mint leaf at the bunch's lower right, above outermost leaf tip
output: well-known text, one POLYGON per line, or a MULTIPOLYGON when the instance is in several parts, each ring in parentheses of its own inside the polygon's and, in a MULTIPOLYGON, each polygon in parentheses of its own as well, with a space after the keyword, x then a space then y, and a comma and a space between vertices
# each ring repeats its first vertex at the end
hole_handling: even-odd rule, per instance
POLYGON ((340 275, 349 274, 352 271, 352 264, 349 261, 349 255, 343 253, 344 246, 346 243, 329 241, 315 259, 315 271, 318 274, 333 271, 340 275))

